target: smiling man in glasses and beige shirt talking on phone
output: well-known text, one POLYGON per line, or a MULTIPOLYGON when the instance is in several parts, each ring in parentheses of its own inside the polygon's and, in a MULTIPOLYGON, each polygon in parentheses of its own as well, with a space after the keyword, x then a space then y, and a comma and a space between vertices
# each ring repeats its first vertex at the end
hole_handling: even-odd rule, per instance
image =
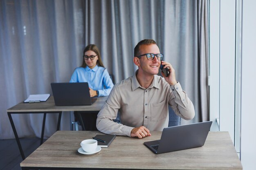
POLYGON ((106 134, 143 138, 150 130, 162 131, 168 127, 168 104, 185 120, 193 119, 192 102, 176 81, 170 63, 170 75, 158 76, 163 55, 154 40, 142 40, 134 49, 133 62, 138 66, 135 75, 116 84, 98 114, 97 129, 106 134), (118 110, 121 124, 115 123, 118 110))

